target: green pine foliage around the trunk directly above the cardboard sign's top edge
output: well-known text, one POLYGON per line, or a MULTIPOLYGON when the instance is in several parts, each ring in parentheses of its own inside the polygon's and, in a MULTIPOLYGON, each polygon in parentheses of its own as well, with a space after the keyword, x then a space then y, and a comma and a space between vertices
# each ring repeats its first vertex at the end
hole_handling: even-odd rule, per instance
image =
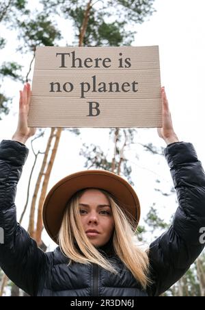
MULTIPOLYGON (((74 25, 74 45, 79 43, 79 34, 87 8, 85 1, 77 0, 42 0, 46 12, 71 19, 74 25)), ((126 25, 142 23, 154 9, 151 1, 93 1, 83 46, 121 46, 131 45, 134 34, 126 30, 126 25), (110 21, 111 20, 111 21, 110 21)))

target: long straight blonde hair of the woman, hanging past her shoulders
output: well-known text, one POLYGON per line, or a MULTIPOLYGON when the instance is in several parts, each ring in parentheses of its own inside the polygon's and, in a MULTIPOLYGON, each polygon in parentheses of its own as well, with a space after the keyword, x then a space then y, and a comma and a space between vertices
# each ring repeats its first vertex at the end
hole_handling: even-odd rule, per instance
MULTIPOLYGON (((113 232, 113 250, 120 258, 124 265, 131 271, 133 276, 139 281, 143 289, 150 283, 148 277, 149 259, 145 250, 142 250, 136 244, 136 232, 134 219, 126 212, 125 208, 120 207, 122 204, 118 200, 102 189, 111 204, 115 229, 113 232), (118 203, 117 203, 118 202, 118 203)), ((103 257, 87 238, 81 224, 81 215, 79 213, 79 198, 86 189, 78 191, 69 200, 64 217, 59 230, 59 246, 61 252, 72 261, 84 264, 95 263, 105 270, 118 274, 113 265, 103 257), (75 241, 81 250, 81 254, 75 245, 75 241)))

